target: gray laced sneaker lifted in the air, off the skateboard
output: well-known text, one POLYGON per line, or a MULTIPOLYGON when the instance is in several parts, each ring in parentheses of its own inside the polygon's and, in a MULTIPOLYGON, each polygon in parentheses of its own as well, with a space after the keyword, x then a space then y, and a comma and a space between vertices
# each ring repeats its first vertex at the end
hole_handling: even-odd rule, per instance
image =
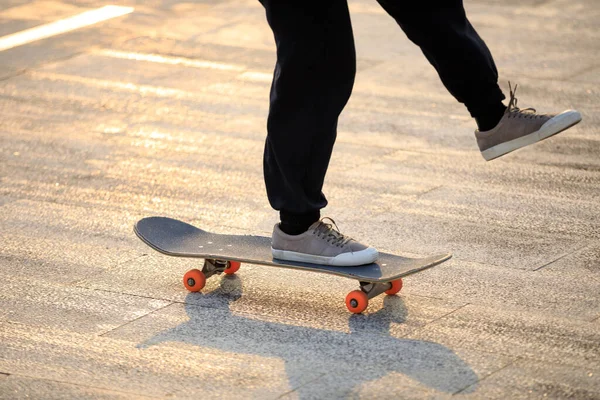
POLYGON ((538 114, 534 108, 521 110, 517 107, 516 91, 517 86, 514 92, 510 88, 508 108, 494 129, 475 131, 481 155, 487 161, 549 138, 581 121, 581 114, 575 110, 560 114, 538 114))

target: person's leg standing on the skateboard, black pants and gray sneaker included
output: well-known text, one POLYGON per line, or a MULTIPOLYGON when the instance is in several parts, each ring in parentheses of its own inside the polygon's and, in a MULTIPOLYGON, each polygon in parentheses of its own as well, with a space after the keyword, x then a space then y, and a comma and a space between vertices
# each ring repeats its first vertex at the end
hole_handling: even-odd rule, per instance
POLYGON ((338 117, 356 73, 348 4, 261 3, 277 44, 264 155, 267 195, 281 217, 273 228, 273 257, 345 266, 374 262, 377 250, 342 235, 333 221, 319 220, 338 117))

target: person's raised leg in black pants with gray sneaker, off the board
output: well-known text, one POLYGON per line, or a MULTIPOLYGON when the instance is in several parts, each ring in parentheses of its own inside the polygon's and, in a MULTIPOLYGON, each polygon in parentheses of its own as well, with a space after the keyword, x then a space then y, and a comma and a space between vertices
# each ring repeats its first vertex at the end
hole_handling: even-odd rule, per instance
MULTIPOLYGON (((421 47, 450 93, 477 122, 477 144, 486 160, 546 139, 579 123, 575 110, 538 114, 521 110, 511 90, 506 107, 492 55, 465 14, 462 0, 378 0, 421 47)), ((516 89, 516 88, 515 88, 516 89)))

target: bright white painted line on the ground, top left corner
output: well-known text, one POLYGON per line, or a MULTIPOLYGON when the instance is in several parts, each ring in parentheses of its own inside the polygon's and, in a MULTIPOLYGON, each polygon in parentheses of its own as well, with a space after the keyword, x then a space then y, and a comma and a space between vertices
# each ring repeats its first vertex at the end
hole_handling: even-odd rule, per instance
POLYGON ((121 6, 104 6, 96 10, 86 11, 70 18, 0 37, 0 51, 97 24, 98 22, 120 17, 131 12, 133 12, 132 7, 121 6))

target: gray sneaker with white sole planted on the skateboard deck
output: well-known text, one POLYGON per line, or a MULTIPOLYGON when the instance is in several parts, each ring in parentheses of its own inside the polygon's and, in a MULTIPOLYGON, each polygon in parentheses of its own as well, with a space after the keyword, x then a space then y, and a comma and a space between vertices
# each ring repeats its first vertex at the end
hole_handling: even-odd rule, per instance
POLYGON ((271 247, 273 258, 347 267, 377 260, 379 253, 376 249, 341 234, 333 226, 337 228, 331 218, 323 218, 300 235, 288 235, 279 228, 279 224, 275 225, 271 247), (330 220, 331 224, 324 220, 330 220))

